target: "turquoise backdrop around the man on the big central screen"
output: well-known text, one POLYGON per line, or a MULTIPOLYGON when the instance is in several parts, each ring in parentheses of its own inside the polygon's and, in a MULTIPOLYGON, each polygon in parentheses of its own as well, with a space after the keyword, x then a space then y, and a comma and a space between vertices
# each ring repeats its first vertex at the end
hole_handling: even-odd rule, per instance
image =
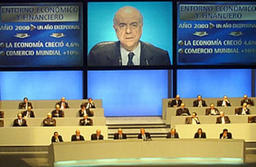
POLYGON ((88 2, 88 52, 103 41, 117 41, 113 28, 116 11, 133 6, 143 15, 142 41, 169 52, 173 63, 173 4, 172 2, 88 2))

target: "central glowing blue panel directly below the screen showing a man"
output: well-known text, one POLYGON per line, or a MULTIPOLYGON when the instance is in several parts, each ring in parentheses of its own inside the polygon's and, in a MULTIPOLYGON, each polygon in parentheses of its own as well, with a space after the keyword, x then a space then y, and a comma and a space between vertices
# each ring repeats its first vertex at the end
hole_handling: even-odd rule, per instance
POLYGON ((161 115, 167 70, 88 71, 88 97, 103 99, 105 116, 161 115))

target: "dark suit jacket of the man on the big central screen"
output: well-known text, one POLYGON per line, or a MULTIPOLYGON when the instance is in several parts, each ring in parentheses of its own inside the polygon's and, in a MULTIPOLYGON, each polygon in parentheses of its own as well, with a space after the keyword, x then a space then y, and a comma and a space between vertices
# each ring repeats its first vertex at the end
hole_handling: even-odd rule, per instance
MULTIPOLYGON (((140 41, 140 65, 170 65, 167 51, 140 41)), ((93 46, 88 56, 89 66, 121 66, 120 42, 105 42, 93 46)))

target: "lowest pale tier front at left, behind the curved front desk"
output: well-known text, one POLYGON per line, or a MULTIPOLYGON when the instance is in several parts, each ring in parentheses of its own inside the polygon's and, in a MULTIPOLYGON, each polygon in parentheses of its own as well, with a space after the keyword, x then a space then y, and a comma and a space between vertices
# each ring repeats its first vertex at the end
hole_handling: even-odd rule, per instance
POLYGON ((0 128, 0 146, 48 146, 55 131, 67 142, 77 129, 86 141, 96 129, 101 129, 104 139, 108 139, 108 126, 7 127, 0 128))

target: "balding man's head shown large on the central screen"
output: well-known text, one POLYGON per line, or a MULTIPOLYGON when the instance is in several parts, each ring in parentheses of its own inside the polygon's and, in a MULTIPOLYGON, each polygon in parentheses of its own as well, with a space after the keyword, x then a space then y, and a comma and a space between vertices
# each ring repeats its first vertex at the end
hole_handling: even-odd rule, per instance
POLYGON ((134 50, 142 36, 142 17, 139 10, 124 7, 116 13, 114 30, 122 47, 127 51, 134 50))

